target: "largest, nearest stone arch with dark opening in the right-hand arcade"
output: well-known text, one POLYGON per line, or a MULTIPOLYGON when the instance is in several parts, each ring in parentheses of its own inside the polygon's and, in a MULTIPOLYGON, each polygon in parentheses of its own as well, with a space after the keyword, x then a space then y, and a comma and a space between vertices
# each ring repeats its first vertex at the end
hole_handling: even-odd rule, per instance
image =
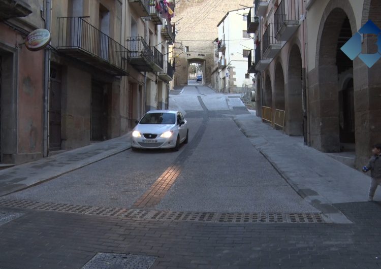
MULTIPOLYGON (((309 103, 310 144, 325 152, 339 152, 339 76, 353 62, 340 50, 357 31, 351 3, 331 0, 321 19, 316 47, 316 84, 309 103)), ((311 78, 310 78, 311 81, 311 78)))

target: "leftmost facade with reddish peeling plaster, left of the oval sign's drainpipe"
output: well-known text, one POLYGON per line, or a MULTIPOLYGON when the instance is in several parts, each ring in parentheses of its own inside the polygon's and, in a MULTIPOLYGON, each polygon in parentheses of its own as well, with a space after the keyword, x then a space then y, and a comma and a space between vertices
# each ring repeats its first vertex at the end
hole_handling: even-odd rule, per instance
POLYGON ((44 51, 23 45, 44 27, 42 1, 17 2, 0 1, 0 164, 42 157, 44 51))

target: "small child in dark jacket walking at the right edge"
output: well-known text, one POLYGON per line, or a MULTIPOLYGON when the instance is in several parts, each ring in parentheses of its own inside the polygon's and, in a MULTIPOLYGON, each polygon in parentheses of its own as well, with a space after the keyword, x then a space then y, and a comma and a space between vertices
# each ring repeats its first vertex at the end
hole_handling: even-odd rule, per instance
POLYGON ((377 186, 381 185, 381 144, 375 144, 372 153, 373 156, 369 159, 368 164, 363 167, 363 172, 370 171, 371 177, 368 201, 373 200, 377 186))

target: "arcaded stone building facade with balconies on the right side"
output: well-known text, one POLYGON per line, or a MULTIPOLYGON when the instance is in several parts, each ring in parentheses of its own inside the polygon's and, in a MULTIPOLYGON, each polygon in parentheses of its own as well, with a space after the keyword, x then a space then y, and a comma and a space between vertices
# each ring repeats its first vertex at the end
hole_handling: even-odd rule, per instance
MULTIPOLYGON (((255 4, 253 10, 261 17, 257 43, 261 53, 255 59, 257 107, 284 110, 288 135, 304 136, 308 145, 323 152, 352 151, 361 167, 381 138, 377 75, 381 62, 368 68, 340 48, 369 19, 381 27, 377 16, 381 4, 374 0, 255 4)), ((364 35, 362 52, 376 51, 376 37, 364 35)), ((258 115, 264 111, 258 109, 258 115)))

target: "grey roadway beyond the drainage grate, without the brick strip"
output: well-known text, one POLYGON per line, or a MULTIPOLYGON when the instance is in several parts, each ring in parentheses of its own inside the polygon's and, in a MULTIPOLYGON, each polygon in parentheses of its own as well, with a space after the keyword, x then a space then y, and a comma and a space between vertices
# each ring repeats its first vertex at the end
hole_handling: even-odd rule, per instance
POLYGON ((184 111, 190 142, 179 152, 131 150, 5 198, 132 208, 172 165, 180 175, 154 208, 196 212, 317 212, 251 146, 233 121, 248 114, 238 95, 187 86, 171 95, 184 111))

